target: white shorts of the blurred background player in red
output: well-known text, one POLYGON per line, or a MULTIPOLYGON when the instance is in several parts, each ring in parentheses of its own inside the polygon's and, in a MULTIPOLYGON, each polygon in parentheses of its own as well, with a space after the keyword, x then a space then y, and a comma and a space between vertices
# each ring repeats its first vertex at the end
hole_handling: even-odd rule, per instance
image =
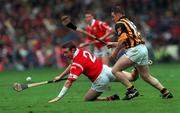
POLYGON ((103 57, 108 56, 110 53, 109 49, 106 46, 101 47, 100 49, 94 48, 94 56, 96 57, 103 57))

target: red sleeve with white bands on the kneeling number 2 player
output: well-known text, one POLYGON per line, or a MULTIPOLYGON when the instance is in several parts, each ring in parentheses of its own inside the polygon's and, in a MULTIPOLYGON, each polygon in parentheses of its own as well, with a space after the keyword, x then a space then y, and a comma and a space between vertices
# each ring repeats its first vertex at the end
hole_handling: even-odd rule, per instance
POLYGON ((71 81, 77 80, 77 78, 81 75, 82 72, 83 72, 83 67, 81 64, 72 63, 68 80, 71 81))

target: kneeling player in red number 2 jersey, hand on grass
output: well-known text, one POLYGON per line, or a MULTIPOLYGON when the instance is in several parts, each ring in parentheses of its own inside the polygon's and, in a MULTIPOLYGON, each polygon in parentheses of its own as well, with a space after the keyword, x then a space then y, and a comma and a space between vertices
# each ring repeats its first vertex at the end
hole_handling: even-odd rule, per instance
MULTIPOLYGON (((81 48, 76 48, 72 42, 63 44, 62 46, 64 55, 71 60, 71 64, 66 68, 66 70, 61 73, 59 76, 56 76, 54 80, 59 80, 64 76, 69 74, 68 79, 64 83, 62 90, 59 95, 54 99, 50 100, 49 103, 56 102, 60 100, 72 86, 72 83, 76 79, 84 74, 92 82, 92 86, 89 91, 86 93, 84 100, 85 101, 110 101, 110 100, 119 100, 119 96, 114 94, 109 97, 99 97, 102 92, 104 92, 109 84, 109 82, 115 81, 116 78, 111 72, 111 68, 103 64, 102 61, 96 58, 94 55, 89 53, 86 50, 81 48)), ((135 80, 136 73, 125 72, 128 80, 135 80)))

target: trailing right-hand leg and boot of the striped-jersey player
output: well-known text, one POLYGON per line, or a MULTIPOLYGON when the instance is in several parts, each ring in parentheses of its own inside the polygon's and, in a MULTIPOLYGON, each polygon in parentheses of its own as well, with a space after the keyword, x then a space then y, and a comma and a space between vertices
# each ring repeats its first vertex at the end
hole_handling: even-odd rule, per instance
POLYGON ((144 81, 146 81, 161 92, 162 98, 173 98, 173 95, 159 82, 159 80, 149 74, 148 65, 137 66, 137 69, 144 81))

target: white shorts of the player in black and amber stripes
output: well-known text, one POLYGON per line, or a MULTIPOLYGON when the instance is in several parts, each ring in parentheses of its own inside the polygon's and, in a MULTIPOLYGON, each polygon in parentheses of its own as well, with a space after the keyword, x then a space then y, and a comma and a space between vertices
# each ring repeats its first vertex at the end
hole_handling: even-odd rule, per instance
POLYGON ((127 56, 137 65, 148 64, 148 50, 144 44, 127 49, 124 56, 127 56))

